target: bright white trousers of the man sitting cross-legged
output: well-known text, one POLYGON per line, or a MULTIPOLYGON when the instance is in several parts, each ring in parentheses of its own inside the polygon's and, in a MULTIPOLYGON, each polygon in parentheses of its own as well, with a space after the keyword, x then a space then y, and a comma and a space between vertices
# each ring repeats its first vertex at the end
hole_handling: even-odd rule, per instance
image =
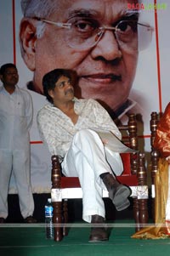
MULTIPOLYGON (((63 174, 78 177, 82 186, 82 219, 91 222, 91 216, 98 214, 105 218, 102 190, 106 190, 100 174, 122 173, 122 159, 112 153, 112 166, 106 160, 105 147, 99 135, 90 129, 75 134, 71 147, 62 162, 63 174), (114 165, 114 166, 113 166, 114 165), (112 170, 111 170, 112 169, 112 170)), ((113 174, 114 175, 114 174, 113 174)))

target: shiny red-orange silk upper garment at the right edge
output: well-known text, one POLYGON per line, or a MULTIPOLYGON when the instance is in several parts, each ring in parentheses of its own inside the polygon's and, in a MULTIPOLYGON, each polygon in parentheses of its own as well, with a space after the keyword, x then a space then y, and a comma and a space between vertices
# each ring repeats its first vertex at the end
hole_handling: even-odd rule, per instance
POLYGON ((160 152, 161 157, 170 156, 170 103, 158 123, 154 148, 160 152))

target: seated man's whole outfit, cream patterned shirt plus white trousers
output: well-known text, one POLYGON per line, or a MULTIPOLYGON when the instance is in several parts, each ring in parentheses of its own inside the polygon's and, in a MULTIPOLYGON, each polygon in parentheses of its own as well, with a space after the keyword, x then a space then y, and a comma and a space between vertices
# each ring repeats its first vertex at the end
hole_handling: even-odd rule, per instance
MULTIPOLYGON (((102 199, 105 185, 99 175, 105 172, 113 174, 106 161, 105 146, 94 129, 111 131, 119 139, 121 133, 97 101, 75 99, 74 107, 79 116, 76 124, 54 105, 48 104, 38 112, 37 125, 51 154, 64 157, 63 173, 78 176, 82 186, 82 218, 90 222, 94 214, 105 218, 102 199)), ((121 157, 116 152, 113 152, 113 157, 113 171, 120 174, 121 157)))

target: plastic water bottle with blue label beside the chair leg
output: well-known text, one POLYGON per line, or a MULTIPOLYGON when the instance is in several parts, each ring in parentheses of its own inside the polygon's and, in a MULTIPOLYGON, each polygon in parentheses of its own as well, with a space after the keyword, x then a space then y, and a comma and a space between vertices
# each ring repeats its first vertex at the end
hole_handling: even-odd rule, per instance
POLYGON ((51 203, 51 198, 48 198, 48 202, 45 205, 45 230, 46 238, 54 239, 53 206, 51 203))

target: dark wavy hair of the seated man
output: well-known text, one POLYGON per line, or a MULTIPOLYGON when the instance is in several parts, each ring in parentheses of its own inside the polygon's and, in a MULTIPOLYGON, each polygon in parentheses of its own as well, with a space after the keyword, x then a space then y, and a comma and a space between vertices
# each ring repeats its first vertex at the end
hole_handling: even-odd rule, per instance
POLYGON ((68 77, 72 81, 73 71, 66 69, 54 69, 49 71, 42 78, 43 94, 46 96, 47 100, 50 103, 53 103, 53 99, 48 94, 49 90, 54 90, 55 83, 59 80, 60 77, 68 77))

